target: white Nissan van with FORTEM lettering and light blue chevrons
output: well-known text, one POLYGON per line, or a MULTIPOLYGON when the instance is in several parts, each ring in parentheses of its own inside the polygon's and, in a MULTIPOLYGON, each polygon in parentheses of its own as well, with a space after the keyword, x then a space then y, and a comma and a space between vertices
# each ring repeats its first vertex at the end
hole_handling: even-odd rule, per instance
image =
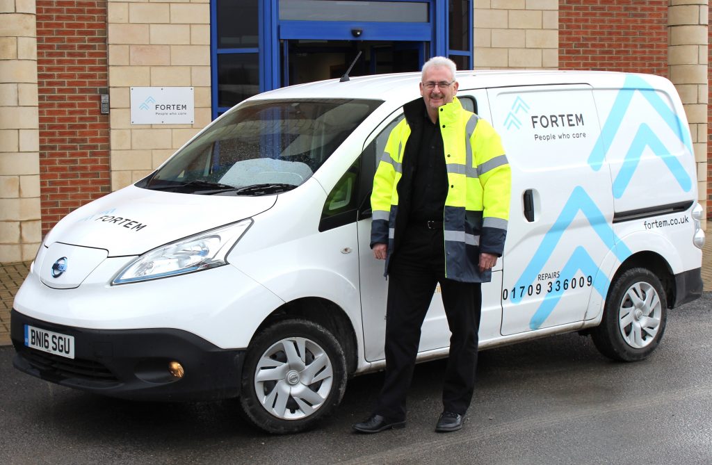
MULTIPOLYGON (((369 249, 376 164, 420 73, 257 95, 159 169, 62 219, 14 301, 14 365, 130 399, 237 397, 268 432, 313 426, 384 367, 369 249)), ((649 355, 701 295, 698 183, 679 97, 652 75, 463 71, 512 169, 480 348, 580 331, 649 355)), ((444 357, 439 294, 419 360, 444 357)))

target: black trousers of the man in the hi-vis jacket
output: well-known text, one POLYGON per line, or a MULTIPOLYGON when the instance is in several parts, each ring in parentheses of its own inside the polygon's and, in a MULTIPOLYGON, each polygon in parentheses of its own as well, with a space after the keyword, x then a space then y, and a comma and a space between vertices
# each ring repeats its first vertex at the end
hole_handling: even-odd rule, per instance
POLYGON ((421 326, 440 283, 452 333, 447 362, 443 409, 465 414, 472 399, 477 367, 481 315, 480 283, 445 278, 443 231, 408 226, 402 244, 391 258, 386 308, 386 373, 375 413, 402 421, 406 395, 415 366, 421 326))

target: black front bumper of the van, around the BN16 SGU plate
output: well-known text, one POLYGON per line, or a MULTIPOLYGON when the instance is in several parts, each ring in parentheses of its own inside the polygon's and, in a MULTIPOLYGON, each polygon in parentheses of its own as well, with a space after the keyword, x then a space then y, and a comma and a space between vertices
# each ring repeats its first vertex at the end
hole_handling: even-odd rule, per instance
POLYGON ((244 350, 218 348, 197 335, 169 328, 93 330, 56 325, 12 310, 13 365, 28 375, 123 399, 224 399, 240 394, 244 350), (74 337, 75 358, 26 347, 25 325, 74 337), (182 378, 168 370, 176 360, 182 378))

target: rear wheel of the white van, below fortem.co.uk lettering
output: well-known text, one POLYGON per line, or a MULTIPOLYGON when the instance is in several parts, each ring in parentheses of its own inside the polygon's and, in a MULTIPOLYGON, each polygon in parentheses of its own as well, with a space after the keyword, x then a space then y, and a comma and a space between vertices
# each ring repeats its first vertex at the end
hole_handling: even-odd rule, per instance
POLYGON ((606 357, 643 360, 660 343, 666 318, 666 294, 658 277, 645 268, 631 268, 611 286, 601 324, 591 335, 606 357))

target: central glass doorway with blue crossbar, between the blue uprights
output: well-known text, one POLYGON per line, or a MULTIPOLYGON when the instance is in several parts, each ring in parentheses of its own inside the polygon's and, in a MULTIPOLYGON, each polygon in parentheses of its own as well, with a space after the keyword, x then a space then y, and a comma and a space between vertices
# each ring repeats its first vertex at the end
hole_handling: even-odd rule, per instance
POLYGON ((417 71, 434 40, 433 0, 279 0, 280 85, 417 71))

